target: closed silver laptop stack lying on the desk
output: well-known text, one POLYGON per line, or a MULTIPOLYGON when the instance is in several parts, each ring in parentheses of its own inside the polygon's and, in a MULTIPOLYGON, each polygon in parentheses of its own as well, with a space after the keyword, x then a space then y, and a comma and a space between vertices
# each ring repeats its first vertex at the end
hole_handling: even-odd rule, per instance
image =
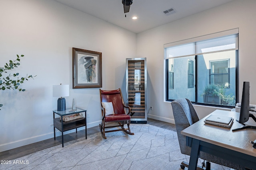
POLYGON ((230 128, 233 124, 233 120, 234 119, 232 117, 220 116, 220 115, 210 115, 209 117, 207 117, 204 120, 204 123, 230 128))

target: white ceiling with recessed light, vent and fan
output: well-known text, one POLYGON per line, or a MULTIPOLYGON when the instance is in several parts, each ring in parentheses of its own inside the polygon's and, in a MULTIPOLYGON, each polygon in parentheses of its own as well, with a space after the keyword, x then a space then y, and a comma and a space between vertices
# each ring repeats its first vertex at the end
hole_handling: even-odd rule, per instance
POLYGON ((232 0, 133 0, 130 12, 124 14, 122 0, 55 0, 134 33, 179 20, 232 0), (163 12, 174 8, 176 13, 163 12), (137 20, 132 20, 137 16, 137 20))

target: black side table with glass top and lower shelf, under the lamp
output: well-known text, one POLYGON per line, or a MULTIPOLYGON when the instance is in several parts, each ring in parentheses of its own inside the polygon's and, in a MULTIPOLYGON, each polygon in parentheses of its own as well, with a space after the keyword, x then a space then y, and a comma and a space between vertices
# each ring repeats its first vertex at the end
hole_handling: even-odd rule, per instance
POLYGON ((77 133, 78 127, 85 126, 85 139, 87 139, 86 110, 76 108, 77 109, 76 111, 70 112, 71 109, 72 108, 66 109, 64 111, 53 110, 54 140, 56 140, 56 137, 55 137, 55 128, 56 128, 59 131, 61 131, 61 134, 62 134, 62 147, 64 147, 63 132, 65 131, 76 129, 76 133, 77 133), (63 116, 72 115, 75 113, 82 113, 82 112, 84 112, 85 117, 70 120, 70 121, 63 121, 63 116), (60 115, 60 117, 55 118, 55 114, 60 115))

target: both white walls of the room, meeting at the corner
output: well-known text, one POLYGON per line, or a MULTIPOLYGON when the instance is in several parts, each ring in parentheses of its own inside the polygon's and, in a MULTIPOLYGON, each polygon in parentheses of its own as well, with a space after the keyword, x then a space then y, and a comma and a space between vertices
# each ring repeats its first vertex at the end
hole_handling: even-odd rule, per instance
MULTIPOLYGON (((102 89, 125 91, 125 59, 147 57, 147 106, 154 108, 148 117, 174 123, 171 104, 164 102, 164 44, 239 28, 240 94, 242 82, 250 81, 256 104, 255 7, 255 0, 234 0, 136 35, 52 0, 1 0, 0 66, 23 54, 15 72, 37 76, 22 84, 25 92, 0 90, 0 152, 53 137, 54 84, 70 84, 66 105, 75 98, 87 109, 88 127, 100 123, 98 88, 71 88, 72 47, 102 52, 102 89)), ((195 108, 200 118, 216 109, 195 108)))

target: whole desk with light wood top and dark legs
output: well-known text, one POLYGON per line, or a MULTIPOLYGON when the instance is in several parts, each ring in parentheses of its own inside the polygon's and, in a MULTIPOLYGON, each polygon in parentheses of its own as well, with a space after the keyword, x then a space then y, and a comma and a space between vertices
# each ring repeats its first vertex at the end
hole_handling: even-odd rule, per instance
MULTIPOLYGON (((232 129, 242 126, 235 121, 239 119, 237 112, 215 110, 211 114, 233 117, 234 123, 231 128, 208 125, 204 123, 204 119, 208 117, 206 116, 181 131, 181 134, 186 136, 186 145, 191 147, 188 169, 196 170, 199 152, 203 151, 255 170, 256 149, 252 147, 250 141, 256 139, 256 130, 244 129, 232 132, 232 129)), ((255 125, 252 118, 247 123, 255 125)))

